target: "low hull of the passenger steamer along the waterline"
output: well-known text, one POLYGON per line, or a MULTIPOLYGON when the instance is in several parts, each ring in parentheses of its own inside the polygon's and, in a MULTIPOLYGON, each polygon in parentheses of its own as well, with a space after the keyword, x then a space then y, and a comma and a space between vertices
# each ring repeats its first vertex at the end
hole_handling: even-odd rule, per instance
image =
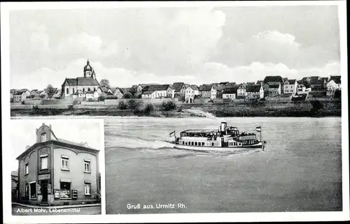
POLYGON ((253 149, 264 150, 264 142, 258 142, 257 144, 244 145, 242 147, 195 147, 190 145, 175 144, 175 149, 186 149, 192 151, 222 151, 222 152, 235 152, 235 151, 249 151, 253 149))

